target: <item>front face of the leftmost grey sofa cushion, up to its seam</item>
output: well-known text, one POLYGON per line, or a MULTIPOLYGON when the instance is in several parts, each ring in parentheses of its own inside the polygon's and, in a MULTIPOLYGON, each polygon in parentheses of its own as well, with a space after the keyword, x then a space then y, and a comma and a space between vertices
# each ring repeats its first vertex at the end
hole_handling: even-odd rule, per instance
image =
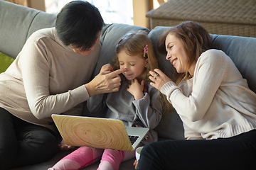
POLYGON ((7 1, 1 1, 0 8, 0 51, 15 58, 26 42, 28 28, 38 11, 7 1))

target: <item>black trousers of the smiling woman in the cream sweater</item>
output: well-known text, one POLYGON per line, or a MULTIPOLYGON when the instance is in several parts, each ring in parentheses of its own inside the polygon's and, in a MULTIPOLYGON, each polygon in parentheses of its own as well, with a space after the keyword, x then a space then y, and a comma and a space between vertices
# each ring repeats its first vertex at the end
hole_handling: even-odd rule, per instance
POLYGON ((154 142, 142 149, 137 169, 256 169, 256 130, 226 139, 154 142))

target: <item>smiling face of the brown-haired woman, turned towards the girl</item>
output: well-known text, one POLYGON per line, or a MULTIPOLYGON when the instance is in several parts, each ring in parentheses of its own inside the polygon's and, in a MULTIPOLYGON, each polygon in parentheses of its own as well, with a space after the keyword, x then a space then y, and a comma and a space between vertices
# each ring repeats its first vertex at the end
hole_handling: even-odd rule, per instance
POLYGON ((166 36, 166 60, 169 60, 174 65, 178 73, 185 72, 186 64, 188 63, 188 55, 181 40, 174 35, 166 36))

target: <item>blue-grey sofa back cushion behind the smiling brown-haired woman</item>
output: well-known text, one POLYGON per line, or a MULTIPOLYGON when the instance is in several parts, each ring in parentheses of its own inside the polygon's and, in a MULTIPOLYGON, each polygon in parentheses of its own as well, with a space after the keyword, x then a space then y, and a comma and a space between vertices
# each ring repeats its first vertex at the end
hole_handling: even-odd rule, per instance
MULTIPOLYGON (((161 33, 166 30, 164 26, 159 26, 151 30, 149 38, 153 42, 156 56, 160 63, 160 69, 170 78, 173 78, 169 61, 166 56, 159 54, 157 51, 157 41, 161 33)), ((247 79, 248 86, 252 91, 256 92, 256 38, 245 38, 230 35, 210 35, 213 40, 213 48, 223 50, 235 63, 236 67, 242 74, 242 77, 247 79)), ((156 128, 159 132, 159 137, 179 140, 182 139, 183 126, 181 119, 177 116, 176 111, 166 113, 161 119, 161 123, 156 128)))

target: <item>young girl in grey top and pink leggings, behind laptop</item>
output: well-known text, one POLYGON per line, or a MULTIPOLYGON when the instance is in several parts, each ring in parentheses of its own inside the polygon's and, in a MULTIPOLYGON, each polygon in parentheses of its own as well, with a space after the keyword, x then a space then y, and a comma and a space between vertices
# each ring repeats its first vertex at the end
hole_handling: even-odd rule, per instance
MULTIPOLYGON (((107 118, 122 120, 126 126, 149 128, 141 145, 158 140, 154 128, 161 120, 159 92, 149 84, 149 70, 157 67, 151 41, 144 31, 129 33, 119 40, 114 57, 114 69, 122 69, 119 91, 92 96, 87 101, 90 112, 101 111, 107 105, 107 118)), ((110 67, 109 72, 113 71, 110 67)), ((60 160, 51 169, 80 169, 97 162, 98 169, 118 170, 119 164, 134 157, 134 152, 114 149, 80 147, 60 160)))

